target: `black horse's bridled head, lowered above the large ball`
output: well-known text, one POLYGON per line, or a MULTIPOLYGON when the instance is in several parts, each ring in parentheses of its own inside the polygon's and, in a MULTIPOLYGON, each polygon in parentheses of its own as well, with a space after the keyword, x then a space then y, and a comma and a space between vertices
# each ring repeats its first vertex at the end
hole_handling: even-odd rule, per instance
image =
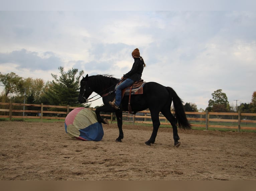
POLYGON ((83 77, 83 79, 80 82, 80 92, 78 96, 78 101, 80 103, 86 103, 88 100, 88 97, 93 93, 92 89, 89 86, 88 81, 88 74, 86 77, 83 77))

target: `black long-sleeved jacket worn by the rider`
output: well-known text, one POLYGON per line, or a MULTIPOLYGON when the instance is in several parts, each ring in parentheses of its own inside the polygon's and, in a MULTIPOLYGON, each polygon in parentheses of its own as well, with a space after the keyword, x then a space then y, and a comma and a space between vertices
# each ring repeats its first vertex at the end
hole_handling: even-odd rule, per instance
POLYGON ((134 58, 134 63, 132 65, 132 69, 124 74, 124 78, 129 78, 134 82, 141 80, 142 71, 144 69, 144 61, 141 58, 134 58))

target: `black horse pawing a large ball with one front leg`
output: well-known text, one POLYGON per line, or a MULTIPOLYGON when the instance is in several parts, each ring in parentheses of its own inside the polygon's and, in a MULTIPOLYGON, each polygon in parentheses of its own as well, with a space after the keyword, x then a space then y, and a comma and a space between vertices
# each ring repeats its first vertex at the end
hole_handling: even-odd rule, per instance
MULTIPOLYGON (((115 112, 117 117, 117 125, 119 128, 119 136, 116 141, 122 142, 122 139, 124 138, 122 129, 122 111, 128 111, 129 96, 125 95, 123 97, 120 110, 115 110, 109 104, 109 101, 113 101, 115 98, 115 85, 118 84, 119 81, 120 79, 116 79, 108 75, 96 75, 89 77, 87 74, 86 77, 83 77, 80 82, 80 93, 78 100, 80 103, 87 102, 88 97, 93 92, 101 95, 104 105, 96 108, 95 110, 97 120, 98 122, 108 124, 108 121, 100 116, 100 112, 115 112)), ((191 125, 187 121, 185 115, 182 101, 175 91, 170 87, 165 87, 155 82, 147 82, 143 86, 143 94, 131 95, 130 105, 134 113, 147 108, 150 110, 151 119, 153 122, 153 132, 150 139, 145 142, 147 145, 151 145, 151 143, 153 144, 155 142, 156 134, 160 126, 160 112, 172 125, 175 147, 180 145, 180 142, 178 142, 179 136, 177 125, 183 129, 191 129, 191 125), (175 117, 170 111, 172 101, 175 109, 175 117)))

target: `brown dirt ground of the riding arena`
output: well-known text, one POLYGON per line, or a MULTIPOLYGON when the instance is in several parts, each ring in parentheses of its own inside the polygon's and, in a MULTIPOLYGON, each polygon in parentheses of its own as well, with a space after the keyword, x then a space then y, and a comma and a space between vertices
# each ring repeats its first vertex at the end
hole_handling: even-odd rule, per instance
POLYGON ((103 125, 102 141, 72 139, 63 122, 0 121, 0 180, 256 180, 256 133, 103 125))

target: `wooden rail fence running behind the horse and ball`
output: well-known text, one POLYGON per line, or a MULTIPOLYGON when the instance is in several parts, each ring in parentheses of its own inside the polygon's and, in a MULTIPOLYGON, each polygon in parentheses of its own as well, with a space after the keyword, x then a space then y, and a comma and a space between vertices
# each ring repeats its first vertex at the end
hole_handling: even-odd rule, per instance
MULTIPOLYGON (((44 105, 41 104, 24 104, 24 103, 3 103, 0 102, 0 118, 31 118, 31 119, 65 119, 67 114, 76 107, 44 105)), ((95 108, 91 108, 95 110, 95 108)), ((256 130, 256 113, 221 113, 221 112, 185 112, 187 119, 195 127, 208 128, 230 128, 230 129, 248 129, 256 130)), ((108 118, 112 123, 115 120, 115 114, 103 113, 102 116, 108 118)), ((161 124, 169 125, 170 123, 160 113, 161 124)), ((136 123, 152 124, 150 111, 143 110, 135 115, 129 112, 123 112, 123 121, 136 123)))

